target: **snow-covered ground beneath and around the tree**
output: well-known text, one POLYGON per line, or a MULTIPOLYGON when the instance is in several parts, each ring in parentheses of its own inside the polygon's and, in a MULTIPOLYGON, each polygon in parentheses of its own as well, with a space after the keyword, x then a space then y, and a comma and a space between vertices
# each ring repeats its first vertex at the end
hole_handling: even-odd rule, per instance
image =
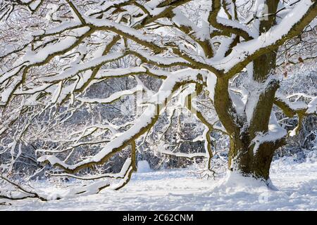
POLYGON ((199 179, 191 171, 139 172, 120 191, 48 203, 20 200, 0 210, 317 210, 317 160, 273 162, 278 191, 235 176, 199 179))

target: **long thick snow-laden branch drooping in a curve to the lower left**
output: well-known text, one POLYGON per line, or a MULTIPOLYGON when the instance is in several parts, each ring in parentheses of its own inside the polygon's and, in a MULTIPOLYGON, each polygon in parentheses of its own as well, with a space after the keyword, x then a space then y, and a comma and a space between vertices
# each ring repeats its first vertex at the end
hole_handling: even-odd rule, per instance
POLYGON ((114 153, 122 150, 130 144, 131 141, 135 141, 137 137, 144 134, 148 129, 150 129, 153 124, 158 120, 158 113, 161 112, 161 109, 165 107, 165 101, 168 100, 173 91, 178 88, 178 85, 183 82, 192 82, 196 81, 197 73, 179 73, 178 76, 168 77, 163 81, 161 88, 157 94, 151 97, 147 109, 144 110, 144 113, 135 120, 132 127, 127 131, 123 132, 120 135, 117 135, 115 139, 111 140, 106 147, 104 147, 99 153, 94 155, 91 158, 82 160, 75 165, 68 165, 66 162, 59 160, 55 155, 43 155, 38 158, 39 162, 49 162, 51 165, 61 167, 65 169, 66 172, 74 173, 80 169, 92 166, 104 164, 114 153))

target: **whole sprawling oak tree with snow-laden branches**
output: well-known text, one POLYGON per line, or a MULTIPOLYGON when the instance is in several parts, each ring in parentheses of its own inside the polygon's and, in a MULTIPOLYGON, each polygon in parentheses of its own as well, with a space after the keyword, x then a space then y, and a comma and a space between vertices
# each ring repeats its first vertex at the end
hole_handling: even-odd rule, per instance
MULTIPOLYGON (((275 150, 299 131, 304 116, 316 115, 316 96, 282 96, 275 75, 279 47, 313 23, 316 4, 316 0, 1 1, 1 153, 12 155, 6 172, 23 155, 25 136, 37 136, 37 141, 46 141, 45 148, 35 146, 41 155, 37 161, 63 171, 55 175, 97 180, 71 193, 97 193, 109 186, 111 178, 120 179, 115 187, 119 189, 137 170, 137 148, 160 116, 184 108, 204 124, 205 153, 161 153, 206 157, 206 168, 211 169, 210 134, 219 131, 230 139, 228 169, 268 182, 275 150), (194 15, 189 15, 193 9, 194 15), (11 30, 13 25, 18 32, 11 30), (130 63, 118 63, 127 58, 130 63), (144 75, 154 77, 159 88, 150 89, 144 75), (233 88, 230 84, 237 77, 248 85, 233 88), (87 94, 111 79, 131 84, 106 98, 87 94), (203 94, 216 111, 213 122, 197 104, 203 94), (89 126, 80 124, 73 133, 63 133, 63 125, 75 126, 65 123, 78 110, 89 114, 92 105, 113 104, 133 95, 138 96, 133 120, 101 122, 96 115, 99 120, 89 126), (275 108, 287 117, 297 116, 298 126, 287 132, 278 123, 275 108), (49 142, 49 132, 60 132, 55 141, 59 145, 49 142), (75 150, 79 146, 91 151, 75 150), (92 150, 93 146, 101 148, 92 150), (82 170, 105 165, 127 150, 129 157, 120 172, 82 175, 82 170), (74 162, 70 159, 75 152, 80 157, 74 162)), ((46 199, 1 177, 19 187, 23 198, 46 199)))

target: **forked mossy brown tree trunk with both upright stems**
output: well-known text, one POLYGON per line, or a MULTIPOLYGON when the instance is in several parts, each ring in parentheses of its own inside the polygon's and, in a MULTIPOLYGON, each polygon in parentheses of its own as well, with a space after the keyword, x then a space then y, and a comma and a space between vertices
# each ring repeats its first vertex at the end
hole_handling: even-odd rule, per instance
MULTIPOLYGON (((273 15, 277 10, 278 0, 266 1, 266 5, 268 6, 268 15, 273 15)), ((266 32, 274 24, 275 16, 269 16, 267 20, 261 20, 259 33, 266 32)), ((225 92, 223 89, 228 88, 228 86, 225 86, 225 84, 228 84, 227 81, 217 81, 214 99, 219 119, 230 134, 229 169, 231 171, 239 171, 245 176, 263 179, 264 181, 269 179, 275 150, 284 144, 284 139, 261 143, 259 146, 252 143, 252 140, 259 132, 266 133, 268 131, 275 92, 279 86, 278 79, 272 79, 275 61, 276 53, 272 51, 256 58, 253 62, 253 83, 250 86, 257 82, 263 89, 259 93, 259 100, 256 105, 251 105, 253 107, 253 115, 251 115, 249 122, 246 120, 246 112, 244 112, 244 115, 237 115, 231 109, 232 101, 228 100, 230 95, 223 94, 225 92), (267 82, 268 79, 270 79, 270 82, 267 82)), ((249 96, 254 94, 250 92, 249 96)))

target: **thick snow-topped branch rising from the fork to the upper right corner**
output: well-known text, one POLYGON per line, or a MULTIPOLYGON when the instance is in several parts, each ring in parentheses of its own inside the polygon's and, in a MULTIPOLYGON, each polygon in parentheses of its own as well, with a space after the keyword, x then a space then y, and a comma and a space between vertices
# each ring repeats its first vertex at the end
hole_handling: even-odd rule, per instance
POLYGON ((287 39, 298 35, 316 17, 316 12, 316 1, 300 1, 278 25, 271 27, 268 32, 256 39, 237 44, 225 58, 220 60, 211 58, 209 62, 216 69, 224 70, 229 76, 235 75, 237 70, 242 70, 252 59, 276 49, 287 39))

